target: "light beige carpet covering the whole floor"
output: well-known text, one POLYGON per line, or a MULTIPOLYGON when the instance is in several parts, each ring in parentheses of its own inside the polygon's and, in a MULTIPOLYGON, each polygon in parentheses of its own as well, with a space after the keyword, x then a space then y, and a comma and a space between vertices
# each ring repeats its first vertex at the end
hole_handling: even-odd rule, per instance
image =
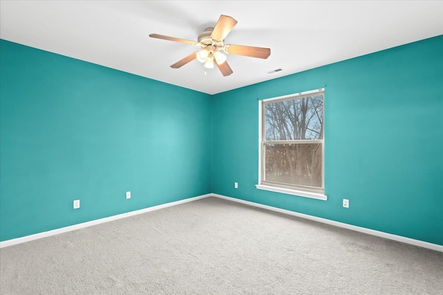
POLYGON ((443 294, 443 253, 206 198, 0 249, 0 294, 443 294))

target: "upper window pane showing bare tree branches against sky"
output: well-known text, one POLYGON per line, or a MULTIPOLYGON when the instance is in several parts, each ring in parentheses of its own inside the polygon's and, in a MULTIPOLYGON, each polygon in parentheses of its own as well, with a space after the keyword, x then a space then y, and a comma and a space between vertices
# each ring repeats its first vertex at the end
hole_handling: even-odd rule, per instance
POLYGON ((323 139, 323 94, 264 104, 265 140, 323 139))

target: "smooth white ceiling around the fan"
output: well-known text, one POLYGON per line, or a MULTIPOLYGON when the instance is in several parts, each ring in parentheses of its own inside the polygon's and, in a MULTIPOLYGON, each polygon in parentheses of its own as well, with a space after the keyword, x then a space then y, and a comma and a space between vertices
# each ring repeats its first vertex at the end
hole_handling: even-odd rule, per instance
POLYGON ((215 94, 443 34, 443 1, 1 1, 0 37, 127 73, 215 94), (197 41, 220 15, 238 23, 226 44, 271 48, 228 55, 234 73, 204 75, 197 41), (279 73, 268 70, 283 68, 279 73))

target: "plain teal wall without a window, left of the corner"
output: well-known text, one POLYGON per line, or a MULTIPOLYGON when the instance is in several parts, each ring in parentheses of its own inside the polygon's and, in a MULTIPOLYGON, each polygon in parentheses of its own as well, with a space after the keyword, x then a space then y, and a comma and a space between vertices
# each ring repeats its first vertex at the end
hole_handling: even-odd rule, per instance
POLYGON ((0 240, 210 193, 210 95, 0 42, 0 240))

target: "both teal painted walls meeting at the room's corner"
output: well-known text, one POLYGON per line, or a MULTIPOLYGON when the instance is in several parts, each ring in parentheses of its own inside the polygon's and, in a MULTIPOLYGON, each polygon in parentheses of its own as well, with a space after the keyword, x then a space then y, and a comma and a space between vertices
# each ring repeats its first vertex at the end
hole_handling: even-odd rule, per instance
POLYGON ((443 245, 442 52, 439 36, 211 98, 1 40, 0 240, 212 191, 443 245), (255 189, 257 99, 324 85, 329 199, 255 189))

